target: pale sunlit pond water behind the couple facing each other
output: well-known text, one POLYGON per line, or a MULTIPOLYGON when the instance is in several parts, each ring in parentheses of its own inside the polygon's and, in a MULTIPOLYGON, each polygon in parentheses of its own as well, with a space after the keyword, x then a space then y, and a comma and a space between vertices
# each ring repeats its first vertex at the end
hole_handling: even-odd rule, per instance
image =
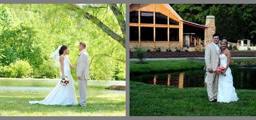
MULTIPOLYGON (((49 93, 58 80, 31 80, 31 79, 0 79, 0 94, 1 93, 49 93)), ((107 90, 105 87, 110 85, 125 85, 125 81, 88 81, 87 90, 92 93, 100 94, 125 94, 125 91, 107 90)), ((74 83, 76 92, 78 92, 78 82, 74 83)))

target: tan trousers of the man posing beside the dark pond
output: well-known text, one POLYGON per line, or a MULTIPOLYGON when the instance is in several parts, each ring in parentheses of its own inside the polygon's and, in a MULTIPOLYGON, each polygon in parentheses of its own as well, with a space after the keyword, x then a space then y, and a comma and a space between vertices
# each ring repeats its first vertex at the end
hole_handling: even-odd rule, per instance
POLYGON ((209 73, 207 72, 208 81, 207 81, 207 93, 209 101, 213 101, 217 99, 218 94, 218 81, 219 81, 219 74, 217 72, 209 73))

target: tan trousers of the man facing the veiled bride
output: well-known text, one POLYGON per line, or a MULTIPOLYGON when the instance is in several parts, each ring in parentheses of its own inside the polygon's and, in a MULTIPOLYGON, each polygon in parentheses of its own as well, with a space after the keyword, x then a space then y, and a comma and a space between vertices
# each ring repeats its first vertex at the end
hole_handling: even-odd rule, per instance
POLYGON ((79 84, 79 96, 80 96, 80 105, 81 106, 86 106, 86 88, 87 88, 87 80, 79 79, 78 81, 79 84))

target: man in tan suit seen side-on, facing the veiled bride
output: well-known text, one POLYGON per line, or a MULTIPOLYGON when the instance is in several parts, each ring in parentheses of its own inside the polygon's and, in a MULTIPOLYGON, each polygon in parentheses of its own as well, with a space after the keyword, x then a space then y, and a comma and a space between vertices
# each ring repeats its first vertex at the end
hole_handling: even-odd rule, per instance
POLYGON ((89 79, 89 54, 85 50, 85 43, 79 43, 79 57, 77 61, 76 76, 79 84, 79 96, 80 96, 80 105, 86 106, 86 88, 87 80, 89 79))

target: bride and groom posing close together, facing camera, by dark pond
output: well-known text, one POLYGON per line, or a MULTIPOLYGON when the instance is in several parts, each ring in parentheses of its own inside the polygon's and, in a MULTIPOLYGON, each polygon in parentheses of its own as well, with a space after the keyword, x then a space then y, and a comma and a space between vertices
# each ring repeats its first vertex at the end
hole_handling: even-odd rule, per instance
POLYGON ((239 98, 233 87, 233 77, 229 65, 231 63, 231 54, 228 50, 228 42, 223 39, 220 41, 219 36, 213 35, 213 42, 205 48, 205 65, 207 93, 209 102, 235 102, 239 98), (217 73, 218 67, 224 69, 217 73))

